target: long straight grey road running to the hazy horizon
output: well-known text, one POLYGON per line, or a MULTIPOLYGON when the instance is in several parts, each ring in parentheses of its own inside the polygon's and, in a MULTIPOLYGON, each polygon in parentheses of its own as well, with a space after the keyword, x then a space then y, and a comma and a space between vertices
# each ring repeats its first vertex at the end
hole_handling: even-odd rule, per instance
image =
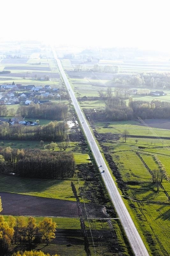
POLYGON ((107 191, 108 191, 108 193, 111 197, 111 200, 115 206, 116 212, 121 220, 122 226, 123 226, 124 231, 128 237, 128 240, 132 247, 132 250, 136 256, 149 256, 149 253, 147 252, 147 249, 137 231, 137 228, 135 227, 135 224, 133 223, 133 220, 130 217, 128 210, 126 209, 126 206, 122 200, 122 197, 120 196, 119 191, 115 185, 115 182, 107 168, 105 160, 100 153, 98 145, 92 135, 89 125, 87 124, 85 116, 83 115, 83 113, 78 105, 77 99, 74 95, 74 92, 73 92, 71 86, 70 86, 67 76, 63 70, 61 61, 57 59, 56 52, 55 52, 54 48, 52 48, 52 50, 53 50, 54 58, 57 61, 61 76, 63 77, 63 80, 69 90, 70 97, 71 97, 72 103, 76 109, 79 121, 81 122, 82 128, 85 132, 85 135, 89 142, 90 148, 95 157, 96 163, 99 166, 99 169, 100 169, 102 178, 105 182, 107 191), (102 167, 100 167, 100 165, 102 165, 102 167), (105 170, 105 172, 103 172, 103 170, 105 170))

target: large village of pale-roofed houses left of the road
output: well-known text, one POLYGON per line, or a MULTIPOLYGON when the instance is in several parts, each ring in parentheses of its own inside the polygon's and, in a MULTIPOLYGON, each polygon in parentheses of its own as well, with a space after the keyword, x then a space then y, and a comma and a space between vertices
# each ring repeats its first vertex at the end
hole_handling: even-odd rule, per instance
MULTIPOLYGON (((17 104, 25 102, 26 105, 31 103, 42 103, 39 101, 60 97, 58 88, 51 88, 50 85, 35 86, 22 84, 3 84, 0 88, 7 92, 0 92, 0 104, 17 104), (16 92, 17 91, 17 92, 16 92), (18 92, 20 91, 20 92, 18 92), (23 92, 22 92, 23 91, 23 92)), ((48 100, 49 101, 49 100, 48 100)))

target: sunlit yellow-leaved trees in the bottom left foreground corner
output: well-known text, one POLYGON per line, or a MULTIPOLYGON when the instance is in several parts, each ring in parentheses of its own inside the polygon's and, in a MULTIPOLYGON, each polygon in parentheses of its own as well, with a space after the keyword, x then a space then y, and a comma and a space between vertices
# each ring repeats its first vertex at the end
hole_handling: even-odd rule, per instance
MULTIPOLYGON (((51 218, 44 218, 37 225, 36 219, 29 217, 26 221, 26 217, 19 216, 17 218, 13 216, 8 217, 8 222, 4 220, 3 216, 0 216, 0 252, 1 255, 9 255, 8 252, 11 249, 12 243, 24 243, 28 244, 31 249, 33 243, 36 244, 42 240, 48 243, 55 238, 56 223, 51 218)), ((14 253, 13 255, 40 255, 43 254, 30 254, 25 252, 14 253)))

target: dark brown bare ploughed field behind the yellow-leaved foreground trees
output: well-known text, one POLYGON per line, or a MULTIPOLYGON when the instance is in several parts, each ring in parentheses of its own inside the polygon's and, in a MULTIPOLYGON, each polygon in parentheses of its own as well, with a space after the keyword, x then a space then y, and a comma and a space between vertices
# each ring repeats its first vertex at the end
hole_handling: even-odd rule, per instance
POLYGON ((69 200, 0 192, 4 215, 78 217, 77 203, 69 200))

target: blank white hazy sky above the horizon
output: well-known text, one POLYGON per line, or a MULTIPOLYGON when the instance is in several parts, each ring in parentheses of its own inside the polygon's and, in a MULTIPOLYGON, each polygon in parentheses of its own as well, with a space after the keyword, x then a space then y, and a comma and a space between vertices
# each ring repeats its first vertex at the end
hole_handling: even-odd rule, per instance
POLYGON ((0 40, 139 47, 170 52, 169 0, 8 0, 0 40))

